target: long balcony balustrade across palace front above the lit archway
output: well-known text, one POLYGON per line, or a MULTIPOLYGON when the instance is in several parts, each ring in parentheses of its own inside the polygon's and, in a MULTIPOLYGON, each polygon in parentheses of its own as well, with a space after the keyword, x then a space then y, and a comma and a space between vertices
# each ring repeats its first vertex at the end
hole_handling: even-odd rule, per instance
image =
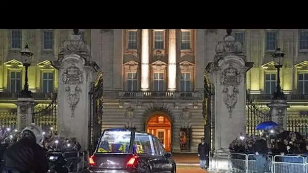
POLYGON ((202 92, 119 92, 120 99, 202 99, 202 92))

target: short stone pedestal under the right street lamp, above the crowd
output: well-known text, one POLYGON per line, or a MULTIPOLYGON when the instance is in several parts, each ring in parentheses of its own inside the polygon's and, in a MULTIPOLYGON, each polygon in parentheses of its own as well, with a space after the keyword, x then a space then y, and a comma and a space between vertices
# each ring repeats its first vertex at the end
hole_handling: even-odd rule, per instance
POLYGON ((287 130, 287 108, 290 107, 285 99, 273 99, 271 103, 267 104, 270 108, 272 121, 278 123, 280 127, 287 130))

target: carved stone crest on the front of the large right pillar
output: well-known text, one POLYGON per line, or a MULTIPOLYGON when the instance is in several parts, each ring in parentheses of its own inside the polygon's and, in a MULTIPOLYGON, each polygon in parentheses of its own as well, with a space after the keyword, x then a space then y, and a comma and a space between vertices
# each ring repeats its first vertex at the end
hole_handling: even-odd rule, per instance
POLYGON ((243 81, 243 76, 232 63, 223 70, 220 76, 220 83, 223 85, 223 102, 226 105, 229 116, 232 117, 232 111, 238 102, 239 85, 243 81))

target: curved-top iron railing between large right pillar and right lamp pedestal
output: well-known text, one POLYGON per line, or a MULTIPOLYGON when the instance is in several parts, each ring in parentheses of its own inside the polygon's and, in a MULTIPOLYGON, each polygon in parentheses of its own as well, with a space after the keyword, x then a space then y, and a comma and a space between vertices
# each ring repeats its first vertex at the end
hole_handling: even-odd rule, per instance
POLYGON ((253 98, 249 91, 246 93, 246 133, 249 135, 258 135, 260 131, 256 130, 256 125, 263 121, 271 121, 272 117, 268 111, 262 110, 253 103, 253 98))

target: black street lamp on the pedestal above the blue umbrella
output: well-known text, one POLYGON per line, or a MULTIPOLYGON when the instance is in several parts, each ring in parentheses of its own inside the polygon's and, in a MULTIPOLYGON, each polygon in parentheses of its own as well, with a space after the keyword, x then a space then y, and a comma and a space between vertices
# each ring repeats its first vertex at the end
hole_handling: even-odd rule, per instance
POLYGON ((280 68, 282 68, 283 65, 283 59, 285 57, 285 53, 283 53, 280 48, 277 48, 276 51, 274 52, 273 59, 275 62, 275 68, 277 68, 277 86, 276 86, 276 92, 274 93, 274 98, 273 99, 285 99, 285 96, 283 92, 281 91, 281 86, 280 86, 280 68))

